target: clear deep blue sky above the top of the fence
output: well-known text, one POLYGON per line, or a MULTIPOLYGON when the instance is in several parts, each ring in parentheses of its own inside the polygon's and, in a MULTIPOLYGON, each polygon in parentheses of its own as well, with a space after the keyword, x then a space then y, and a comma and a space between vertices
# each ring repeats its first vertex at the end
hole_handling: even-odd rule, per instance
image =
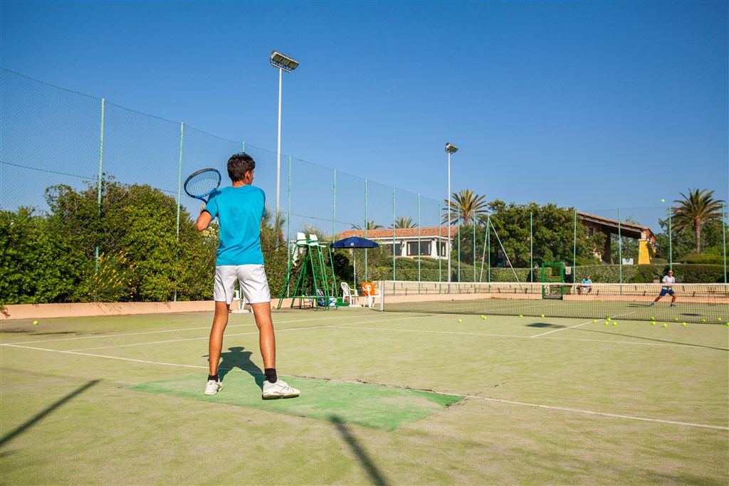
MULTIPOLYGON (((729 199, 727 1, 2 1, 1 66, 436 199, 729 199)), ((270 200, 269 196, 269 200, 270 200)))

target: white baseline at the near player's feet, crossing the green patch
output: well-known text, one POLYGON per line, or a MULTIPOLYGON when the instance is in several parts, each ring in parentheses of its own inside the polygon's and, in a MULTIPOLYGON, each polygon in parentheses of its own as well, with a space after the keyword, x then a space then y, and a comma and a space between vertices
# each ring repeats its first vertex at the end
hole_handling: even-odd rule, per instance
MULTIPOLYGON (((20 349, 31 349, 31 350, 39 350, 39 351, 50 351, 51 353, 63 353, 63 354, 73 354, 77 356, 90 356, 93 358, 109 358, 109 359, 118 359, 120 361, 133 361, 135 363, 141 363, 141 364, 157 364, 160 366, 167 366, 167 367, 179 367, 179 368, 195 368, 195 369, 208 369, 208 367, 203 367, 200 365, 195 364, 176 364, 176 363, 164 363, 160 361, 147 361, 144 359, 133 359, 133 358, 121 358, 120 356, 106 356, 103 354, 92 354, 92 353, 79 353, 77 351, 62 351, 62 350, 56 350, 56 349, 46 349, 46 348, 35 348, 32 346, 20 346, 20 345, 14 345, 14 344, 4 344, 4 346, 10 346, 12 348, 20 348, 20 349)), ((230 369, 230 371, 241 371, 238 369, 230 369)), ((294 375, 296 376, 296 375, 294 375)), ((312 378, 312 377, 305 377, 303 378, 312 378)), ((321 380, 321 378, 316 378, 318 380, 321 380)), ((361 381, 346 381, 346 380, 330 380, 330 381, 336 381, 339 383, 358 383, 358 384, 377 384, 381 385, 379 383, 364 383, 361 381)), ((388 386, 389 388, 405 388, 405 387, 399 387, 399 386, 392 386, 392 385, 381 385, 381 386, 388 386)), ((405 388, 408 390, 416 390, 416 388, 405 388)), ((492 399, 488 396, 478 396, 478 395, 468 395, 464 393, 445 393, 445 392, 438 392, 438 391, 432 391, 432 390, 423 390, 423 391, 429 391, 432 393, 440 393, 442 395, 448 395, 448 396, 462 396, 464 398, 468 399, 479 399, 479 400, 486 400, 486 401, 496 401, 498 403, 504 403, 504 404, 510 404, 510 405, 520 405, 523 407, 537 407, 537 408, 543 408, 543 409, 551 409, 551 410, 558 410, 561 412, 574 412, 574 413, 581 413, 586 415, 599 415, 602 417, 609 417, 609 418, 621 418, 625 420, 639 420, 643 422, 654 422, 654 423, 666 423, 669 425, 674 426, 686 426, 686 427, 699 427, 699 428, 712 428, 714 430, 720 430, 720 431, 729 431, 729 427, 723 427, 723 426, 709 426, 703 423, 690 423, 690 422, 677 422, 675 420, 662 420, 659 418, 645 418, 645 417, 634 417, 632 415, 617 415, 615 413, 607 413, 607 412, 594 412, 593 410, 582 410, 582 409, 574 409, 574 408, 567 408, 567 407, 555 407, 554 405, 541 405, 541 404, 530 404, 523 401, 512 401, 512 400, 502 400, 502 399, 492 399)))

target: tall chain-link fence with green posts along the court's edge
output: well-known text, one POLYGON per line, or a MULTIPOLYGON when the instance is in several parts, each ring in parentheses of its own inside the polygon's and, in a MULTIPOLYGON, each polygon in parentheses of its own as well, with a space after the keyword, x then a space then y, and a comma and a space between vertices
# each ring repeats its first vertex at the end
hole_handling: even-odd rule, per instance
MULTIPOLYGON (((181 122, 125 109, 4 69, 0 72, 0 95, 0 209, 5 226, 4 248, 0 249, 4 263, 0 264, 5 273, 15 275, 0 283, 0 289, 5 289, 0 291, 0 298, 6 302, 209 298, 209 282, 192 283, 195 279, 205 280, 208 274, 201 269, 190 273, 188 268, 194 266, 192 262, 202 260, 211 269, 214 259, 210 259, 209 251, 200 254, 195 249, 200 242, 190 228, 200 202, 184 196, 182 181, 206 167, 217 168, 225 175, 227 159, 235 152, 247 152, 257 161, 254 184, 264 189, 268 211, 275 212, 276 152, 242 139, 219 138, 181 122), (145 187, 163 195, 160 200, 166 203, 157 201, 157 206, 145 212, 145 197, 151 197, 144 192, 145 187), (85 212, 79 209, 82 200, 85 212), (160 204, 167 204, 168 211, 162 211, 160 204), (129 208, 144 215, 146 222, 124 216, 129 208), (69 289, 44 294, 36 288, 40 284, 34 287, 26 281, 47 277, 16 275, 26 272, 31 264, 22 255, 32 253, 32 248, 18 249, 20 239, 30 237, 23 236, 17 226, 12 229, 12 225, 31 216, 52 222, 50 227, 27 233, 35 235, 31 238, 34 246, 46 244, 43 238, 52 235, 54 229, 80 234, 95 228, 93 236, 72 240, 69 245, 71 249, 85 246, 83 255, 92 261, 96 280, 90 278, 88 269, 69 275, 79 282, 96 282, 91 285, 96 289, 83 295, 74 295, 69 289), (69 223, 74 217, 81 218, 76 227, 69 223), (119 218, 116 227, 112 224, 114 217, 119 218), (131 232, 134 228, 136 233, 131 232), (174 243, 155 240, 150 232, 160 238, 174 235, 174 243), (165 260, 155 253, 160 248, 174 254, 168 258, 168 268, 143 262, 145 255, 152 254, 157 260, 165 260), (155 275, 166 275, 165 283, 137 283, 131 291, 129 284, 121 294, 104 297, 98 291, 98 273, 120 272, 120 259, 136 262, 135 278, 140 282, 153 282, 155 275), (152 289, 155 285, 163 290, 152 289), (18 286, 25 286, 25 290, 17 290, 18 286), (142 291, 143 287, 147 290, 142 291)), ((471 207, 456 205, 452 207, 448 240, 445 198, 413 194, 394 184, 282 154, 279 211, 283 223, 278 230, 282 241, 295 240, 298 232, 316 232, 319 240, 359 235, 377 241, 380 248, 356 250, 358 281, 537 281, 541 276, 539 266, 545 262, 563 262, 570 281, 587 275, 593 281, 654 281, 666 267, 697 258, 693 232, 676 232, 670 227, 670 203, 652 208, 585 211, 498 200, 471 207)), ((272 224, 276 225, 275 220, 272 224)), ((722 206, 722 217, 712 222, 702 236, 704 247, 711 250, 705 263, 717 267, 717 275, 692 274, 693 278, 725 281, 726 233, 726 211, 722 206)), ((58 251, 63 254, 70 250, 58 251)), ((286 252, 284 258, 288 255, 286 252)), ((77 266, 82 264, 77 262, 77 266)), ((276 295, 283 276, 272 280, 272 294, 276 295)))

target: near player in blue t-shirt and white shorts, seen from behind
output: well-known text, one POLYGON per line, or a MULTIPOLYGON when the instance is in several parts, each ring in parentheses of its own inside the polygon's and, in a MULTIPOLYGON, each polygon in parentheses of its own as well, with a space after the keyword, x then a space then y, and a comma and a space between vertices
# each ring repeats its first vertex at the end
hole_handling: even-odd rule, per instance
POLYGON ((261 251, 261 219, 265 211, 265 193, 252 186, 256 162, 245 153, 235 154, 227 162, 228 176, 233 182, 211 195, 200 209, 196 225, 206 230, 212 220, 219 222, 219 242, 215 262, 213 299, 215 315, 210 331, 210 375, 205 387, 206 395, 222 390, 218 377, 218 364, 223 345, 223 332, 227 326, 230 303, 233 302, 235 281, 253 309, 259 331, 259 345, 265 381, 263 398, 278 399, 299 396, 299 391, 276 376, 276 337, 271 321, 270 292, 263 267, 261 251))

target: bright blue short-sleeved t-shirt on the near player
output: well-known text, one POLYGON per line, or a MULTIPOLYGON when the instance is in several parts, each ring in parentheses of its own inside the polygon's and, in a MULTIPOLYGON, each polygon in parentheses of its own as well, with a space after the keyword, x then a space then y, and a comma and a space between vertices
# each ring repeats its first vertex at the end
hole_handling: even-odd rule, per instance
POLYGON ((217 216, 220 235, 217 265, 263 264, 261 219, 266 195, 259 187, 224 187, 208 200, 205 211, 217 216))

